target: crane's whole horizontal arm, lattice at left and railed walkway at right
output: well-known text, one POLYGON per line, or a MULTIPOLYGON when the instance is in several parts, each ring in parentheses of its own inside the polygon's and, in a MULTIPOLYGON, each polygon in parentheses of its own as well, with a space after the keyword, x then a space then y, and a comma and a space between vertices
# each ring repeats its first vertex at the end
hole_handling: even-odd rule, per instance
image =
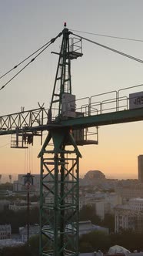
POLYGON ((77 99, 75 118, 67 118, 48 123, 48 109, 44 107, 0 116, 0 135, 50 130, 53 126, 69 126, 71 129, 84 129, 114 123, 128 123, 143 120, 143 85, 132 86, 118 91, 101 93, 77 99), (139 88, 138 88, 139 87, 139 88), (140 91, 138 95, 138 90, 140 91), (128 93, 127 93, 128 91, 128 93), (132 93, 132 94, 131 94, 132 93), (133 96, 132 96, 133 95, 133 96), (136 96, 137 95, 137 96, 136 96), (134 106, 130 102, 134 101, 134 106))

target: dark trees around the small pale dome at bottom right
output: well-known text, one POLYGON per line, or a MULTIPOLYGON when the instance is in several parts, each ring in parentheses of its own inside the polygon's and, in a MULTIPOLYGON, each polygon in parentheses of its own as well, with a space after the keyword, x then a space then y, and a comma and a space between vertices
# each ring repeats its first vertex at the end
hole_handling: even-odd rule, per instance
POLYGON ((93 252, 100 249, 103 253, 107 253, 108 249, 118 244, 129 251, 143 251, 142 244, 143 233, 136 233, 135 231, 126 230, 120 234, 105 234, 103 231, 92 231, 88 234, 83 234, 79 240, 79 251, 93 252))

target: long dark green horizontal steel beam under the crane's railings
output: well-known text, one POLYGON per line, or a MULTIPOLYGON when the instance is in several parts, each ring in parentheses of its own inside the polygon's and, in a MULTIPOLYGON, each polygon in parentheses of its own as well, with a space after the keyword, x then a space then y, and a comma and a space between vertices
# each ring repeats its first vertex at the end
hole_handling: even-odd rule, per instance
MULTIPOLYGON (((48 123, 34 127, 24 127, 18 130, 18 133, 38 132, 44 130, 60 129, 61 127, 71 127, 73 130, 78 128, 105 126, 115 123, 129 123, 143 120, 143 108, 129 109, 112 113, 99 114, 95 116, 84 116, 80 118, 72 118, 61 120, 58 123, 48 123)), ((0 130, 0 135, 15 134, 17 130, 0 130)), ((34 134, 36 136, 36 133, 34 134)), ((37 134, 38 135, 38 134, 37 134)))

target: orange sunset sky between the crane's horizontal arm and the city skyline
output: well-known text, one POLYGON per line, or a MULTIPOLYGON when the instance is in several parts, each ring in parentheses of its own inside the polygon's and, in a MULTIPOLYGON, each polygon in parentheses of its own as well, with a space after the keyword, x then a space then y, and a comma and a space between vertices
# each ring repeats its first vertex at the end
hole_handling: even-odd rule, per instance
MULTIPOLYGON (((98 145, 78 147, 82 155, 81 176, 88 170, 101 170, 106 177, 137 178, 138 155, 143 153, 142 128, 142 122, 101 126, 98 145)), ((10 143, 10 136, 1 136, 1 143, 10 143)), ((10 145, 1 147, 1 173, 25 173, 29 167, 32 173, 39 173, 37 156, 40 149, 40 140, 35 139, 29 161, 25 158, 25 150, 11 149, 10 145)))

